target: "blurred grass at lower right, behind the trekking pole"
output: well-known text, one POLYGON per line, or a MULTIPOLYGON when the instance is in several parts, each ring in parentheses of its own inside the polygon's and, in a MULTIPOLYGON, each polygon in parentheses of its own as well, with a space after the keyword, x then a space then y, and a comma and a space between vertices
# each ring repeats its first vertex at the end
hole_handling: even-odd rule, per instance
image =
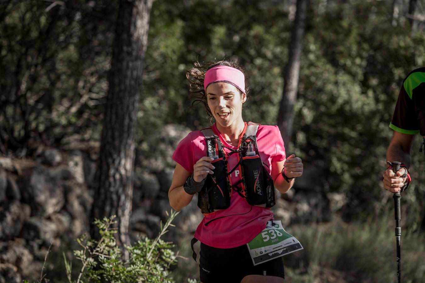
MULTIPOLYGON (((304 249, 283 258, 291 282, 394 282, 396 241, 393 214, 346 224, 293 226, 304 249), (390 221, 391 220, 391 221, 390 221), (391 260, 389 260, 391 259, 391 260), (333 278, 340 281, 331 281, 333 278)), ((405 282, 422 282, 423 233, 402 228, 402 274, 405 282)))

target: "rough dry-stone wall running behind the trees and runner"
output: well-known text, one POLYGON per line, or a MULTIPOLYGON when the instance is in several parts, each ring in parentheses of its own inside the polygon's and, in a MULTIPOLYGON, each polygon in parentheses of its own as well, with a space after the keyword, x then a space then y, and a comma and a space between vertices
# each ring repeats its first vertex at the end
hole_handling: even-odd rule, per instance
MULTIPOLYGON (((175 163, 171 159, 178 142, 189 129, 167 125, 151 146, 150 153, 136 157, 131 216, 132 242, 141 237, 156 237, 160 221, 166 221, 168 189, 175 163), (154 154, 152 154, 154 153, 154 154)), ((40 277, 45 254, 60 249, 88 231, 93 203, 96 150, 45 149, 34 160, 0 157, 0 283, 36 280, 40 277)), ((288 193, 277 193, 273 211, 283 225, 329 221, 343 205, 342 196, 323 193, 320 184, 312 182, 308 170, 288 193), (312 185, 315 184, 315 185, 312 185)), ((202 214, 197 196, 173 222, 175 228, 164 239, 177 245, 193 235, 202 214)), ((58 263, 62 264, 63 263, 58 263)), ((52 280, 54 278, 51 278, 52 280)))

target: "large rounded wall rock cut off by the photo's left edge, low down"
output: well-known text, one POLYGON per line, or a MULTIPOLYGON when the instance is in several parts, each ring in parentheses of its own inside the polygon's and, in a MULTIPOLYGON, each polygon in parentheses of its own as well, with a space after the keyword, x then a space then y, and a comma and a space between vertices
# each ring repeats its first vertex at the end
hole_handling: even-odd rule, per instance
POLYGON ((18 201, 0 207, 0 240, 9 240, 19 235, 26 218, 23 207, 25 205, 18 201))

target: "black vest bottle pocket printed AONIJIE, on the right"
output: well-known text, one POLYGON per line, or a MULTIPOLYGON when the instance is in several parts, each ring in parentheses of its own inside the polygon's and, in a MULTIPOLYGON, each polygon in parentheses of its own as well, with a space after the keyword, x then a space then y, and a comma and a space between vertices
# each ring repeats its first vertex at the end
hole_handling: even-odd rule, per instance
POLYGON ((246 196, 251 205, 260 207, 272 207, 275 205, 275 187, 273 179, 264 168, 258 157, 247 156, 242 158, 242 176, 246 196))

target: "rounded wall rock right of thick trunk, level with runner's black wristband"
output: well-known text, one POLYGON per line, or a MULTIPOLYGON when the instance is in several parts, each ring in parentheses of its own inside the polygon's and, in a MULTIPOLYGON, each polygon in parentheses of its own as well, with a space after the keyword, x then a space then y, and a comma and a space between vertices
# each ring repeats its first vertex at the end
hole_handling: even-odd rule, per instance
POLYGON ((155 174, 147 173, 142 168, 135 168, 133 189, 134 204, 141 202, 142 199, 156 199, 159 195, 159 190, 160 185, 155 174))

